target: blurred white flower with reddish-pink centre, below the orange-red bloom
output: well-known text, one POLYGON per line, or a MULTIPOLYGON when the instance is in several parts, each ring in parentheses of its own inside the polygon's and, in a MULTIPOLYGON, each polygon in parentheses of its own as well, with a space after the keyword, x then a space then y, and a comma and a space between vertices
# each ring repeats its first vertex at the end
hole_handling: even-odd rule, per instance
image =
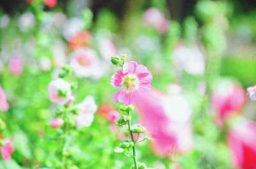
POLYGON ((79 48, 70 55, 70 65, 77 77, 100 78, 103 75, 99 58, 96 52, 90 48, 79 48))

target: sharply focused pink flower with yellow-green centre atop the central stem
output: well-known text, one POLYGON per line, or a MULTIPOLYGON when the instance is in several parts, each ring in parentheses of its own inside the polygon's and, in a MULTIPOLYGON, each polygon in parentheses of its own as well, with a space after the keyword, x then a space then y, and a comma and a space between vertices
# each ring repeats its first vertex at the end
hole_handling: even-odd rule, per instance
POLYGON ((125 62, 123 70, 118 70, 111 77, 111 85, 120 87, 113 101, 131 105, 141 93, 150 90, 151 82, 152 74, 145 66, 134 61, 125 62))

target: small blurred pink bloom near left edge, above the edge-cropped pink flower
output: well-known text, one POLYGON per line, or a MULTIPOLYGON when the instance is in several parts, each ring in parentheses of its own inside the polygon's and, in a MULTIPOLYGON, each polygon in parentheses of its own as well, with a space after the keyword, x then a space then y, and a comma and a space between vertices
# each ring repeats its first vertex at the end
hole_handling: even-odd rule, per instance
POLYGON ((23 71, 23 66, 20 57, 14 56, 9 62, 9 71, 13 75, 20 75, 23 71))

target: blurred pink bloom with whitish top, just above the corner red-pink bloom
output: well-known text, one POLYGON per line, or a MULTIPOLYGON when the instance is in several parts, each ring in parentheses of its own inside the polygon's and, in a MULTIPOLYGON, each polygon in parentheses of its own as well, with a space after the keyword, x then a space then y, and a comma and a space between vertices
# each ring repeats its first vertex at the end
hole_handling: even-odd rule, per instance
POLYGON ((243 88, 230 80, 222 80, 212 94, 212 107, 216 111, 216 123, 223 126, 229 117, 241 111, 245 102, 243 88))

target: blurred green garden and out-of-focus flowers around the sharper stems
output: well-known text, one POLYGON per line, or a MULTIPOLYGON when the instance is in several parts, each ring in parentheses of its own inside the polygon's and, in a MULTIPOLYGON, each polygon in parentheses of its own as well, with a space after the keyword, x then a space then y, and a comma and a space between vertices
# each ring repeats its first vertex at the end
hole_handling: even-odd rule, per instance
POLYGON ((132 160, 113 151, 127 137, 111 118, 119 104, 110 60, 121 54, 153 74, 132 114, 152 138, 138 145, 140 161, 159 169, 256 168, 256 89, 248 90, 256 85, 256 1, 0 4, 0 139, 12 138, 15 149, 0 168, 58 168, 61 132, 49 125, 58 107, 47 86, 65 64, 74 71, 74 103, 92 95, 97 104, 93 122, 70 136, 70 169, 129 168, 132 160))

